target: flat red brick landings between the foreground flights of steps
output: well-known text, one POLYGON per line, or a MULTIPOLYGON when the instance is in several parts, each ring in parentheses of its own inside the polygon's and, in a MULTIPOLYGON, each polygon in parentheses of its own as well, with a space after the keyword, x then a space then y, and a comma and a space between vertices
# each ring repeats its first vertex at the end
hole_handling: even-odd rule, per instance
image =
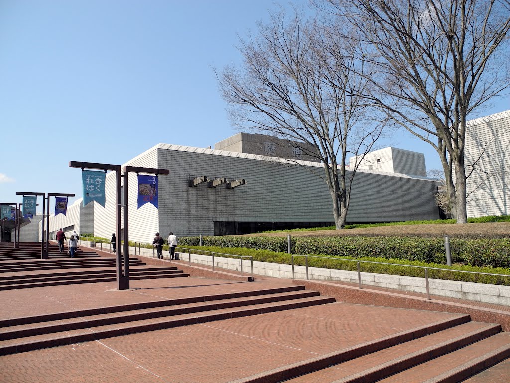
MULTIPOLYGON (((114 282, 0 291, 0 319, 291 283, 178 278, 135 280, 138 290, 120 292, 114 282)), ((331 303, 1 356, 0 381, 222 383, 455 316, 331 303)), ((472 382, 510 381, 497 373, 472 382)))

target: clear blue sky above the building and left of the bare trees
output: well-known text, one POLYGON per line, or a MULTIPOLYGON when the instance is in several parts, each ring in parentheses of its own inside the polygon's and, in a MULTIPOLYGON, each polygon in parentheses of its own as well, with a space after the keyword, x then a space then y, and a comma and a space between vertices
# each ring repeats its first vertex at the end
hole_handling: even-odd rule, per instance
MULTIPOLYGON (((234 134, 211 66, 239 63, 238 35, 278 3, 290 4, 0 0, 0 202, 81 198, 69 160, 121 164, 159 142, 208 147, 234 134)), ((483 114, 509 108, 504 97, 483 114)), ((408 133, 391 144, 440 167, 408 133)))

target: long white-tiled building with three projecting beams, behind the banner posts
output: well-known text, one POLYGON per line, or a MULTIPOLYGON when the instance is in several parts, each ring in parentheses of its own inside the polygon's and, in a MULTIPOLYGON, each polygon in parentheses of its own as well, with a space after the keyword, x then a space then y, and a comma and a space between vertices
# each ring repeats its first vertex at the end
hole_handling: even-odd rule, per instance
MULTIPOLYGON (((164 235, 172 231, 178 236, 226 235, 333 225, 331 196, 318 176, 323 174, 323 166, 298 158, 253 154, 253 136, 258 143, 265 142, 262 135, 240 134, 216 145, 232 150, 160 143, 127 161, 125 165, 170 170, 168 176, 159 178, 159 210, 150 204, 137 209, 137 177, 129 175, 130 240, 149 242, 158 231, 164 235)), ((412 166, 399 168, 409 174, 396 173, 397 165, 388 171, 360 170, 354 178, 347 221, 438 219, 434 197, 438 182, 424 176, 423 155, 396 148, 384 153, 394 164, 411 161, 412 166), (422 175, 413 174, 419 173, 416 169, 422 175)), ((115 231, 114 193, 115 175, 109 173, 106 206, 92 203, 84 208, 80 200, 69 208, 67 217, 50 218, 50 232, 72 228, 109 238, 115 231), (93 229, 85 222, 93 222, 93 229)))

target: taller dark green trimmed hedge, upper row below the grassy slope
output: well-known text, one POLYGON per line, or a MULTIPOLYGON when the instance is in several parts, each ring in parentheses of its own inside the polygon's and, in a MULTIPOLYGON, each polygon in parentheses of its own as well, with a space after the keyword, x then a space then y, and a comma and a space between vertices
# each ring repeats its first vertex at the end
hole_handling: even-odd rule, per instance
MULTIPOLYGON (((179 245, 198 246, 198 237, 179 238, 179 245)), ((285 237, 203 237, 204 246, 247 248, 287 252, 285 237)), ((476 267, 510 268, 510 240, 450 240, 452 262, 476 267)), ((294 254, 322 254, 337 257, 376 257, 446 264, 443 238, 419 237, 297 237, 294 254)))

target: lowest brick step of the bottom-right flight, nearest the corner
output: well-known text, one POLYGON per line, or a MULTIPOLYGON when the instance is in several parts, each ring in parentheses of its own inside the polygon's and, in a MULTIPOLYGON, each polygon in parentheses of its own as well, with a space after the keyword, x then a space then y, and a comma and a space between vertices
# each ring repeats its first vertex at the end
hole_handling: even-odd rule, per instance
POLYGON ((510 332, 500 332, 378 382, 460 382, 508 356, 510 356, 510 332))

